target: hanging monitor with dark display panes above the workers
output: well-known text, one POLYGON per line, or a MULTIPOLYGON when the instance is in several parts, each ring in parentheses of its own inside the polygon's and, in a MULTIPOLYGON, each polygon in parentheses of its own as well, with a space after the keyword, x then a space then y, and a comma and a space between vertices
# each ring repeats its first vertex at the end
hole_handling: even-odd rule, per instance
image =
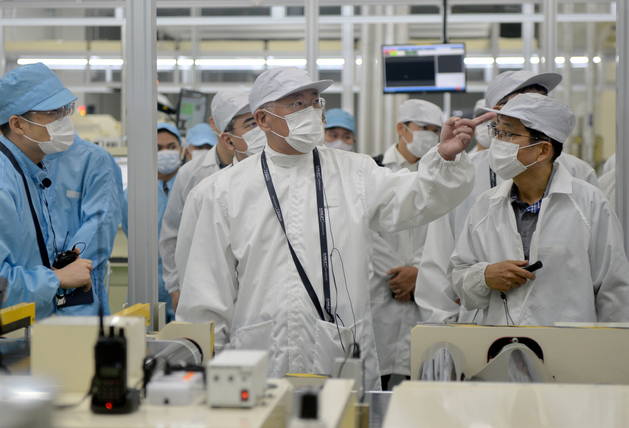
POLYGON ((382 47, 384 93, 465 91, 465 45, 382 47))

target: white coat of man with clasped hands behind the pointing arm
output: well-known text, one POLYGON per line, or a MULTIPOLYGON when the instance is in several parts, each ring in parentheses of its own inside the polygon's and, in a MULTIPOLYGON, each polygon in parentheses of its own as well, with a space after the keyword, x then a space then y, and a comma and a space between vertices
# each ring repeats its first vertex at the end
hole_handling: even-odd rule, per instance
MULTIPOLYGON (((419 161, 409 164, 398 147, 392 145, 384 152, 382 164, 393 172, 403 168, 417 171, 419 161)), ((419 307, 414 301, 399 303, 392 297, 391 275, 387 271, 399 266, 420 267, 426 230, 428 225, 394 233, 370 231, 374 241, 371 313, 381 375, 411 374, 411 329, 420 320, 419 307)))

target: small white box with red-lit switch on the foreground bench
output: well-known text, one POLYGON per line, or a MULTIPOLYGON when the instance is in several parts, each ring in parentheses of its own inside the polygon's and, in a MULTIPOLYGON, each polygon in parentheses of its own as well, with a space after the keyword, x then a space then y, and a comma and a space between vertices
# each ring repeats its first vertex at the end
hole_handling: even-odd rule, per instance
POLYGON ((267 351, 226 349, 206 366, 208 405, 254 407, 264 395, 269 354, 267 351))

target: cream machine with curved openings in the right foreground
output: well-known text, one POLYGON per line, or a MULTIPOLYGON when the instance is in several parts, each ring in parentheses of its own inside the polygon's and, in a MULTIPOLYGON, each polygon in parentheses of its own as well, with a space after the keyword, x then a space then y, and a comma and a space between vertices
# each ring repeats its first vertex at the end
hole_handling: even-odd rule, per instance
POLYGON ((383 427, 626 427, 629 325, 417 325, 383 427))

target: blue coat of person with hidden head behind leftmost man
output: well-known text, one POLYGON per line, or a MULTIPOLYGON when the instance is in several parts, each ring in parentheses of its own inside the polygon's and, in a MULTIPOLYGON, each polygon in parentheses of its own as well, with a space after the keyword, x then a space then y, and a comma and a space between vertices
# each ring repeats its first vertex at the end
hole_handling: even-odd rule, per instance
POLYGON ((94 301, 59 308, 57 315, 98 315, 101 303, 103 313, 109 315, 104 280, 122 220, 120 167, 107 150, 82 140, 78 134, 74 135, 70 149, 46 155, 43 161, 52 180, 47 198, 48 205, 54 207, 50 216, 57 249, 70 250, 76 245, 82 251, 81 257, 94 264, 91 274, 94 301))

